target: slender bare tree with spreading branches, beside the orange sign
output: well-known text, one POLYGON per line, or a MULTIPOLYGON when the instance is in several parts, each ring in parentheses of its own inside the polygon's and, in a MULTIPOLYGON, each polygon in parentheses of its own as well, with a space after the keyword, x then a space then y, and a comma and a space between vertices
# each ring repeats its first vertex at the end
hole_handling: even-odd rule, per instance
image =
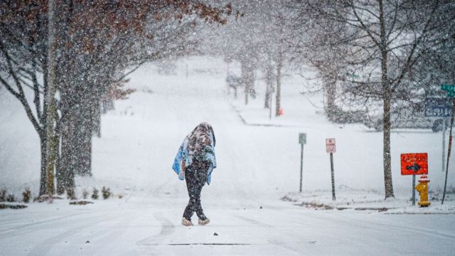
MULTIPOLYGON (((429 40, 444 9, 439 1, 315 1, 308 13, 346 26, 338 44, 348 46, 350 75, 339 78, 346 98, 381 100, 385 198, 394 196, 390 166, 391 105, 412 70, 444 38, 429 40)), ((453 22, 453 18, 448 22, 453 22)), ((409 87, 408 87, 409 88, 409 87)), ((407 89, 406 89, 407 90, 407 89)))

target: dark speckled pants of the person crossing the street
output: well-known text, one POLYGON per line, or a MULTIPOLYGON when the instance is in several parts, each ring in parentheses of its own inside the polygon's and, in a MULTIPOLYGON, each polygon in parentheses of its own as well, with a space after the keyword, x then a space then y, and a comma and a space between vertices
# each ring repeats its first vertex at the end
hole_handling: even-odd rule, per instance
POLYGON ((207 181, 207 171, 209 167, 208 161, 193 161, 191 166, 188 166, 185 170, 186 188, 188 189, 188 206, 186 206, 183 212, 183 218, 191 220, 191 216, 196 212, 200 220, 205 220, 202 206, 200 206, 200 191, 207 181))

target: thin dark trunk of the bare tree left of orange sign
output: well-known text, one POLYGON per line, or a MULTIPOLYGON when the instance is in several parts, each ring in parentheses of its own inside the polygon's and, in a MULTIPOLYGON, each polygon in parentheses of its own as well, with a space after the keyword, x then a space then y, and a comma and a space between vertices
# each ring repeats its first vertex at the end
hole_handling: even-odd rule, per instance
POLYGON ((383 161, 384 161, 384 186, 385 198, 395 197, 393 194, 392 166, 390 164, 390 100, 392 100, 392 88, 387 76, 387 41, 385 38, 385 19, 382 8, 382 0, 379 1, 380 9, 380 50, 381 50, 381 84, 384 101, 383 113, 383 161))

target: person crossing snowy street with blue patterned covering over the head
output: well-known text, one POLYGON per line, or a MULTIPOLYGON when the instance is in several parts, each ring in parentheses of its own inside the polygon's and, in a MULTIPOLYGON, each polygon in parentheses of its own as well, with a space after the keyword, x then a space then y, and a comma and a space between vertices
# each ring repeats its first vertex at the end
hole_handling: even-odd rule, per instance
POLYGON ((211 174, 215 168, 215 134, 210 124, 202 122, 183 140, 172 166, 178 178, 186 180, 190 198, 183 211, 182 225, 193 225, 191 217, 195 212, 199 225, 210 222, 200 205, 200 191, 205 183, 210 185, 211 174))

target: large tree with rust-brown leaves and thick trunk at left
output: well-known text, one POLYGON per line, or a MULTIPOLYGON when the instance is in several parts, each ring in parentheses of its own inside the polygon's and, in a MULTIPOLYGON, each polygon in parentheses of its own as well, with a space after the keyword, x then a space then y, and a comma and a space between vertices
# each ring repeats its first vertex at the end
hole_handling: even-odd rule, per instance
POLYGON ((178 43, 164 43, 186 35, 168 24, 184 22, 188 28, 188 17, 225 23, 223 16, 231 8, 177 0, 58 0, 53 6, 49 9, 46 1, 0 2, 0 83, 21 102, 40 137, 40 195, 53 193, 56 163, 58 193, 66 190, 69 195, 75 172, 90 175, 91 137, 103 95, 112 87, 122 91, 117 86, 129 67, 134 70, 147 60, 171 55, 176 48, 184 50, 178 43), (57 63, 52 67, 48 63, 49 10, 58 24, 51 31, 55 40, 50 41, 56 45, 50 52, 57 63), (154 38, 160 32, 171 36, 160 43, 154 38), (50 68, 55 68, 55 89, 60 94, 55 107, 49 107, 55 99, 55 90, 49 87, 50 68))

